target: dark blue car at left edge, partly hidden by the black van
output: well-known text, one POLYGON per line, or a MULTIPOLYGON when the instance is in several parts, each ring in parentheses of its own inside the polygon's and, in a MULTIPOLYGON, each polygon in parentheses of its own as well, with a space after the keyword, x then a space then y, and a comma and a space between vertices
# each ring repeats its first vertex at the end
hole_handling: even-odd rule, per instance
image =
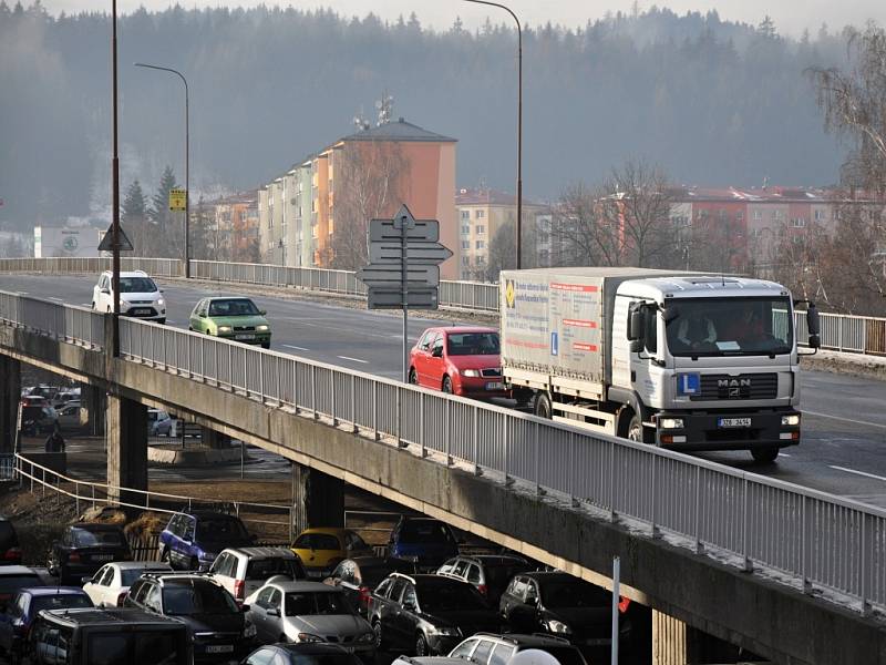
POLYGON ((92 601, 75 586, 34 586, 20 590, 0 614, 0 653, 20 663, 28 634, 42 610, 92 607, 92 601))

